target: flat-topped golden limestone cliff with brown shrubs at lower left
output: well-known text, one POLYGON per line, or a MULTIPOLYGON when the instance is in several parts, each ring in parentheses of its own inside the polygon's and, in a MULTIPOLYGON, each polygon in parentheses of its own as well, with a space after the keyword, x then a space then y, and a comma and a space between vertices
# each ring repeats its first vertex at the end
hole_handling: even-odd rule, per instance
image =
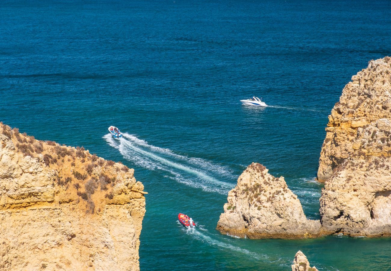
POLYGON ((0 270, 139 270, 133 173, 0 123, 0 270))

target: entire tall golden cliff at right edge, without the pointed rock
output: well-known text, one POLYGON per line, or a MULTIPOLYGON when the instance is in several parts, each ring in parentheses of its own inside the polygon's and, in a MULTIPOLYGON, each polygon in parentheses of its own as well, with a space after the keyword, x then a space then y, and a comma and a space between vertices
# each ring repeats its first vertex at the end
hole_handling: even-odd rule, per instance
POLYGON ((369 61, 329 116, 319 159, 322 229, 391 235, 391 58, 369 61))

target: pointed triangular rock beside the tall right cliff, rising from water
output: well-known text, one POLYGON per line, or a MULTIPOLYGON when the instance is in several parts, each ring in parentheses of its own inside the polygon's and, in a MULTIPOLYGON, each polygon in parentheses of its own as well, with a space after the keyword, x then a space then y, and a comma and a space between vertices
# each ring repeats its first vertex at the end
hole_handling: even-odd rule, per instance
POLYGON ((319 220, 308 220, 283 177, 275 178, 258 163, 239 176, 228 193, 217 229, 249 238, 308 238, 320 235, 319 220))

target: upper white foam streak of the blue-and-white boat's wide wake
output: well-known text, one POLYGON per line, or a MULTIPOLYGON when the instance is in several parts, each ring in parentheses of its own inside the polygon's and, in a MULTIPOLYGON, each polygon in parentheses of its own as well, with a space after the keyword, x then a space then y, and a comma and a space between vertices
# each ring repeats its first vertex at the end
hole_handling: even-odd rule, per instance
POLYGON ((129 139, 130 141, 132 141, 132 143, 135 143, 135 144, 137 144, 139 146, 143 146, 143 147, 149 148, 149 149, 153 150, 154 152, 164 153, 164 154, 170 155, 171 157, 174 157, 174 158, 177 158, 177 159, 181 159, 181 160, 185 160, 185 161, 187 161, 188 163, 190 163, 190 164, 192 164, 194 166, 199 166, 199 167, 201 167, 201 168, 203 168, 205 170, 216 172, 219 175, 225 175, 225 176, 227 176, 229 178, 232 178, 232 179, 236 179, 237 178, 237 176, 233 175, 232 170, 230 168, 213 164, 212 162, 210 162, 208 160, 205 160, 205 159, 194 158, 194 157, 187 157, 185 155, 176 154, 176 153, 174 153, 172 150, 170 150, 168 148, 160 148, 160 147, 156 147, 154 145, 149 145, 147 141, 145 141, 143 139, 139 139, 135 135, 131 135, 131 134, 128 134, 128 133, 123 133, 122 135, 126 139, 129 139))

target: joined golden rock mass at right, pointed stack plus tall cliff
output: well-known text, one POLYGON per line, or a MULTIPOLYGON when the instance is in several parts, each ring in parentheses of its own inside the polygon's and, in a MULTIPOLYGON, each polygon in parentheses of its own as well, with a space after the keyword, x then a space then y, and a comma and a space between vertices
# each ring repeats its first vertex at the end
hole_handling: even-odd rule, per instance
POLYGON ((217 229, 249 238, 343 233, 391 236, 391 58, 369 61, 328 117, 318 181, 321 225, 307 220, 282 177, 251 164, 228 193, 217 229))

